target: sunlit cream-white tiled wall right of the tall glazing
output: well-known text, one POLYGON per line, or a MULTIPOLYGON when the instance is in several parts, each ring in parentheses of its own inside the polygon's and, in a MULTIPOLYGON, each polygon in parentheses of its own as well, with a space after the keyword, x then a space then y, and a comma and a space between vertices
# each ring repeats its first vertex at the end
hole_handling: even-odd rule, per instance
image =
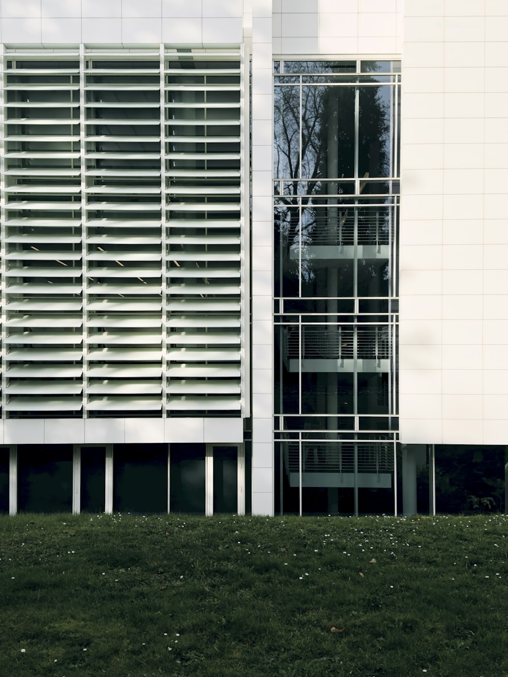
POLYGON ((508 5, 406 0, 404 11, 400 437, 501 444, 508 410, 488 411, 485 398, 503 391, 508 347, 501 319, 508 5), (418 334, 427 339, 415 348, 418 334), (429 351, 429 337, 440 352, 429 351), (432 403, 417 414, 424 392, 432 403))

